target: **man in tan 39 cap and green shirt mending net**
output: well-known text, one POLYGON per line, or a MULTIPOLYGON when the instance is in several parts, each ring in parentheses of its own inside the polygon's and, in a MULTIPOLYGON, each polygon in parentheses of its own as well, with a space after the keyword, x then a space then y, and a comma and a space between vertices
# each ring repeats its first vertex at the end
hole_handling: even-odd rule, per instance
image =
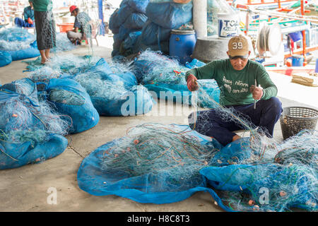
MULTIPOLYGON (((264 66, 248 59, 251 52, 244 36, 232 37, 227 53, 229 59, 215 60, 187 71, 187 87, 195 91, 199 89, 198 79, 215 79, 221 90, 220 105, 234 109, 240 117, 259 126, 259 131, 273 137, 273 128, 283 112, 281 101, 276 97, 276 85, 264 66), (255 108, 254 100, 257 100, 255 108)), ((225 120, 216 109, 192 112, 189 126, 201 134, 216 138, 222 145, 241 138, 233 131, 243 129, 235 121, 225 120)))

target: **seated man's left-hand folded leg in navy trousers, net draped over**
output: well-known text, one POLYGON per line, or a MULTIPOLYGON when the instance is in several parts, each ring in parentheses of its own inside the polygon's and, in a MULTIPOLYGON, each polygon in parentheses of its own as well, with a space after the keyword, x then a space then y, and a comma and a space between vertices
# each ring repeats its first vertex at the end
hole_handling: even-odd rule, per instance
POLYGON ((234 121, 224 120, 220 116, 220 112, 215 109, 192 112, 188 118, 191 129, 205 136, 216 138, 222 145, 227 145, 233 141, 233 138, 237 138, 237 134, 232 131, 241 129, 234 121))

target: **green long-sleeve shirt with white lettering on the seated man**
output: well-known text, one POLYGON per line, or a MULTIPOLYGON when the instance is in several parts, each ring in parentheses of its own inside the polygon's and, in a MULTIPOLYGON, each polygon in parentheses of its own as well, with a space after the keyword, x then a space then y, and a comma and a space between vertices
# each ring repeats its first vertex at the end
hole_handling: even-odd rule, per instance
POLYGON ((277 95, 276 85, 269 78, 264 66, 251 60, 247 61, 241 71, 233 69, 230 59, 220 59, 187 71, 186 80, 189 74, 198 79, 216 80, 221 90, 221 105, 247 105, 254 102, 249 88, 255 84, 255 79, 257 85, 264 89, 261 99, 268 100, 277 95))

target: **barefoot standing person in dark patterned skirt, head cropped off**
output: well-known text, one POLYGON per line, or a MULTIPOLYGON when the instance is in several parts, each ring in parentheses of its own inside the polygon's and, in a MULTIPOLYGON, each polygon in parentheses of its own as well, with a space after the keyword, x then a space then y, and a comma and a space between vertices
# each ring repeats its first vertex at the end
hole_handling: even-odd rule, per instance
POLYGON ((34 8, 37 49, 40 50, 41 64, 49 60, 49 51, 56 46, 55 21, 52 0, 31 0, 34 8))

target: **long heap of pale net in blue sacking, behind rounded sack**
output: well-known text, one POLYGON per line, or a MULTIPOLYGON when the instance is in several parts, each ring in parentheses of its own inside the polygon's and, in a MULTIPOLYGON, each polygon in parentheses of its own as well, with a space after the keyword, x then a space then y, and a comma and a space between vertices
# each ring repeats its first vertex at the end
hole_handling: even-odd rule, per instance
MULTIPOLYGON (((86 90, 100 115, 146 114, 153 107, 153 97, 143 85, 138 85, 136 76, 127 64, 117 61, 108 64, 100 57, 76 57, 71 54, 52 57, 45 66, 39 64, 39 59, 28 63, 28 69, 33 70, 30 72, 30 78, 33 80, 49 81, 52 78, 75 80, 86 90)), ((98 120, 97 117, 90 117, 87 114, 88 121, 91 118, 98 120)))

